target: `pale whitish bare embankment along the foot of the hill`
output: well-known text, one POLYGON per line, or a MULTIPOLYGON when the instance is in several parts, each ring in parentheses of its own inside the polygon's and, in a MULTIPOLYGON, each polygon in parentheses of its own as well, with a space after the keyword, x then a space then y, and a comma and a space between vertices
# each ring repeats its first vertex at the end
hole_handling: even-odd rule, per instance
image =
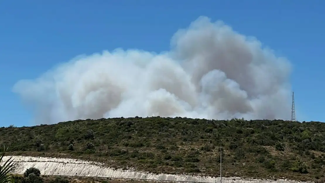
MULTIPOLYGON (((6 161, 10 156, 5 156, 6 161)), ((14 174, 23 174, 26 169, 35 167, 41 171, 42 175, 57 176, 89 176, 89 177, 112 177, 112 178, 129 178, 129 179, 147 179, 163 181, 188 181, 188 182, 207 182, 218 183, 219 177, 204 176, 186 176, 170 174, 150 174, 134 170, 114 170, 105 167, 102 163, 89 162, 83 160, 67 158, 45 158, 31 156, 13 156, 14 161, 18 162, 14 174)), ((239 177, 222 178, 223 183, 298 183, 290 180, 244 180, 239 177)))

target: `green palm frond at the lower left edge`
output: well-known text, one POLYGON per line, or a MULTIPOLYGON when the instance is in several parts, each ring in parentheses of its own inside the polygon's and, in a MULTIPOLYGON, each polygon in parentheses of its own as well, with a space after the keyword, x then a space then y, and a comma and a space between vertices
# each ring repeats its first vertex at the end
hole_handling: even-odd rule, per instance
MULTIPOLYGON (((2 146, 0 146, 0 152, 1 152, 2 146)), ((3 159, 6 154, 5 146, 3 146, 3 153, 0 156, 0 183, 13 183, 14 179, 11 175, 8 175, 11 171, 13 171, 16 167, 16 162, 14 162, 14 159, 12 157, 8 158, 4 163, 3 159)))

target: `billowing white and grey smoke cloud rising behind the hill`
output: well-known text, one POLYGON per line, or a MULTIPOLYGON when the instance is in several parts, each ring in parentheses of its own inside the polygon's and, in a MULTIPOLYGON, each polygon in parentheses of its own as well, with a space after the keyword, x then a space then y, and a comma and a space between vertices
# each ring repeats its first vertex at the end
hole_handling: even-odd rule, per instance
POLYGON ((37 124, 186 116, 290 118, 290 64, 259 41, 200 17, 161 54, 116 49, 79 56, 14 86, 37 124))

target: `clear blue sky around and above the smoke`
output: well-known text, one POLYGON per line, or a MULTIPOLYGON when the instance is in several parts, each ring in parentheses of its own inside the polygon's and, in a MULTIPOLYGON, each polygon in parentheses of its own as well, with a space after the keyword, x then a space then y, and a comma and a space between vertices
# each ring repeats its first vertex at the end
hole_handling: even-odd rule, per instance
POLYGON ((204 15, 255 36, 293 65, 299 121, 325 121, 323 0, 0 1, 0 126, 30 126, 12 92, 60 62, 102 50, 169 50, 180 28, 204 15))

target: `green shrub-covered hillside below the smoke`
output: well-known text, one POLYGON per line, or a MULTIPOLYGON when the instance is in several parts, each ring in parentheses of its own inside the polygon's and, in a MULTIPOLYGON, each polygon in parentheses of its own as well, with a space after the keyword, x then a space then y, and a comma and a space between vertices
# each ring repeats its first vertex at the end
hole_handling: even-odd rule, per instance
POLYGON ((0 128, 9 153, 75 157, 153 173, 325 181, 325 124, 112 118, 0 128), (114 162, 112 163, 113 160, 114 162))

